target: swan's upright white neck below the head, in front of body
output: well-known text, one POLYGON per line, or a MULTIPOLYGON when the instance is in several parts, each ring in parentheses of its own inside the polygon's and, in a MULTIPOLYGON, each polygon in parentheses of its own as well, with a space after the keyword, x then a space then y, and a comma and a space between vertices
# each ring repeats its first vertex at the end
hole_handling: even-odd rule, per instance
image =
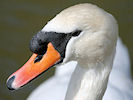
POLYGON ((110 66, 77 64, 71 77, 65 100, 102 100, 107 87, 110 66))

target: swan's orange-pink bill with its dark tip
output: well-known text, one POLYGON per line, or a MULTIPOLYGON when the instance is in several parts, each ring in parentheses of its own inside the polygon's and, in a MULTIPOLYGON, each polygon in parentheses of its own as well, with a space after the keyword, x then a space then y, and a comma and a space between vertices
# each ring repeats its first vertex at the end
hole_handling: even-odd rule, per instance
POLYGON ((33 54, 31 58, 7 80, 7 87, 10 90, 18 89, 27 84, 29 81, 46 71, 61 58, 59 52, 53 47, 52 43, 48 44, 47 52, 43 55, 39 62, 34 62, 37 54, 33 54))

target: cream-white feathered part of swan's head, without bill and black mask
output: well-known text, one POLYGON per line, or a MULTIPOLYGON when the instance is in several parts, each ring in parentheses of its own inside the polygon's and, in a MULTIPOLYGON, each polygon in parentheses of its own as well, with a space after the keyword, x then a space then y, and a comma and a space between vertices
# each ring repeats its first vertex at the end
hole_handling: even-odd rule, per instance
POLYGON ((63 63, 71 60, 95 63, 105 60, 112 53, 117 40, 117 28, 117 22, 111 14, 96 5, 85 3, 63 10, 42 31, 64 34, 80 32, 68 41, 63 63))

